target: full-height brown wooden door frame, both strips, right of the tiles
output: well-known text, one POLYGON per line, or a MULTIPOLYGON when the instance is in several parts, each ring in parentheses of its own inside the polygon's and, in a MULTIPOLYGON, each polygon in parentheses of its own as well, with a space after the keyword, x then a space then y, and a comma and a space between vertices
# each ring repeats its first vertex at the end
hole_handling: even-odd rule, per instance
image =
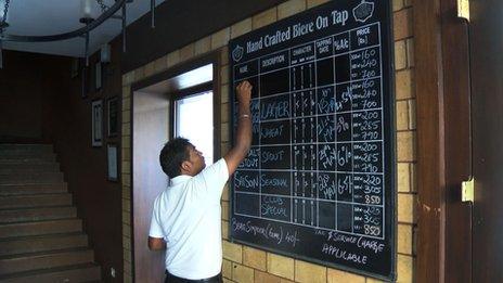
POLYGON ((466 22, 456 17, 455 0, 413 0, 413 11, 417 103, 415 281, 470 282, 470 221, 466 221, 470 206, 462 204, 460 196, 461 182, 472 170, 466 22), (460 233, 466 241, 460 241, 460 233), (463 270, 462 274, 455 274, 453 267, 463 270))

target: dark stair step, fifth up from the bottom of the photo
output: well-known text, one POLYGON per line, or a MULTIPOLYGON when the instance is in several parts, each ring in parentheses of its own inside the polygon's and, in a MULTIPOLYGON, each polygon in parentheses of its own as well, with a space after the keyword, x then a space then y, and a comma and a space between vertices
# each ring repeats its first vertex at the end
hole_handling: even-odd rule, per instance
POLYGON ((74 218, 77 209, 73 206, 40 207, 29 209, 0 210, 0 223, 41 221, 74 218))

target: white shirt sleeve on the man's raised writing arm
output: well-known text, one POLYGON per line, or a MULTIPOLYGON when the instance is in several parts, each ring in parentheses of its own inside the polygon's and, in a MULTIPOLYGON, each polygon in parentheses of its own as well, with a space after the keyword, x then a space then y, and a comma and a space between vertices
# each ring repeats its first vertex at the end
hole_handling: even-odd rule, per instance
POLYGON ((191 179, 191 181, 196 184, 194 188, 204 188, 206 193, 217 201, 220 201, 223 186, 228 180, 229 169, 223 158, 206 167, 202 172, 191 179))

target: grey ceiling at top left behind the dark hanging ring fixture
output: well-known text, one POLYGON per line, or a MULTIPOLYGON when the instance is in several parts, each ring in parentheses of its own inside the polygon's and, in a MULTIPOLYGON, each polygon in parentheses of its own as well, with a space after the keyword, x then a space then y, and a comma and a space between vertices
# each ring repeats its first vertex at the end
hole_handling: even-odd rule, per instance
MULTIPOLYGON (((165 0, 155 0, 156 5, 165 0)), ((112 7, 114 0, 103 0, 112 7)), ((3 8, 4 0, 0 0, 3 8)), ((101 13, 100 5, 92 1, 93 14, 101 13)), ((131 24, 142 15, 150 12, 150 0, 133 0, 127 4, 127 25, 131 24)), ((3 9, 0 9, 2 11, 3 9)), ((8 35, 21 36, 46 36, 68 33, 82 27, 79 23, 81 17, 81 0, 11 0, 9 8, 8 35)), ((117 12, 120 15, 120 10, 117 12)), ((93 53, 100 47, 121 33, 121 21, 109 18, 90 33, 89 53, 93 53)), ((73 38, 52 42, 14 42, 4 41, 7 50, 26 51, 66 56, 83 56, 85 39, 73 38)))

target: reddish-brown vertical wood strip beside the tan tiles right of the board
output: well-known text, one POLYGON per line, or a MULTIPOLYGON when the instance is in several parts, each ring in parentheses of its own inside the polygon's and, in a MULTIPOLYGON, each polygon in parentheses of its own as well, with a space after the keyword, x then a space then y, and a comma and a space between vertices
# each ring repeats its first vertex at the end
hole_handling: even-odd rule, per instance
POLYGON ((414 0, 417 103, 415 282, 444 281, 446 169, 440 0, 414 0))

